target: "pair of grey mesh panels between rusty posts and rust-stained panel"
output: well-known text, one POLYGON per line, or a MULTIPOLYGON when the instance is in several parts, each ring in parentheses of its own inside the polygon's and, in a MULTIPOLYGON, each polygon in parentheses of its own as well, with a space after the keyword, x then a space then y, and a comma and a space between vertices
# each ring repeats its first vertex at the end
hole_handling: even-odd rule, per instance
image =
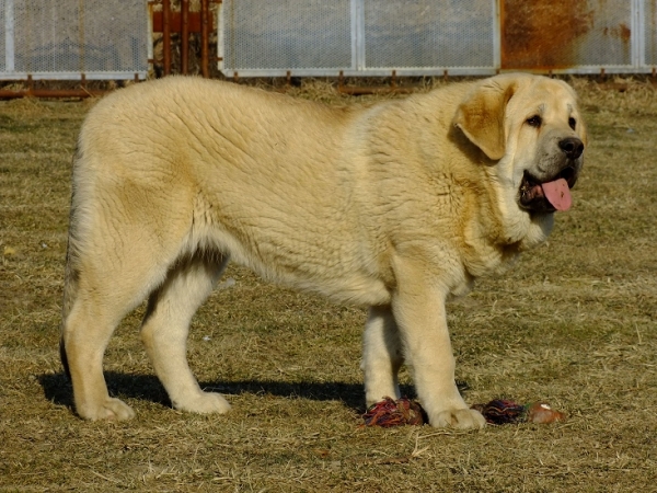
POLYGON ((219 68, 229 77, 494 71, 495 0, 224 0, 219 68))

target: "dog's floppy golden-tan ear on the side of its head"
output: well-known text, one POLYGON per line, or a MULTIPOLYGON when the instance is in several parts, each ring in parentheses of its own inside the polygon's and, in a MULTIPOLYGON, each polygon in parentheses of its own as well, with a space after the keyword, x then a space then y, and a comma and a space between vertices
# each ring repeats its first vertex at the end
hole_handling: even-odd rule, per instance
POLYGON ((516 82, 505 79, 488 79, 477 85, 459 105, 454 116, 454 126, 494 161, 505 153, 504 116, 516 91, 516 82))

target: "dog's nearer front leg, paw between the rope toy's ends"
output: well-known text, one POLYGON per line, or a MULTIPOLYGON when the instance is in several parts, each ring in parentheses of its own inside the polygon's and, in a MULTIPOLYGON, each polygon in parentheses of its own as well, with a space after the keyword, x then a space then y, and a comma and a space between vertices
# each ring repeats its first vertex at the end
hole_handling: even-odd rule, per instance
POLYGON ((445 300, 447 289, 418 265, 399 265, 392 310, 419 401, 433 426, 481 428, 485 420, 468 408, 454 382, 445 300))

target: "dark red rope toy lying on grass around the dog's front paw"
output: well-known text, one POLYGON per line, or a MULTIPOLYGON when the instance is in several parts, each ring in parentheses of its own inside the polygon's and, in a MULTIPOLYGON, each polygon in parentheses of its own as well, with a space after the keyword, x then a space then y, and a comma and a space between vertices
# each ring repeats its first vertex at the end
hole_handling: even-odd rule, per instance
MULTIPOLYGON (((492 425, 538 423, 549 424, 566 421, 565 413, 553 410, 545 402, 519 404, 508 399, 495 399, 486 404, 474 404, 474 409, 483 414, 492 425)), ((384 398, 368 408, 362 415, 364 426, 380 426, 389 428, 403 425, 423 425, 428 423, 425 411, 419 402, 412 399, 384 398)))

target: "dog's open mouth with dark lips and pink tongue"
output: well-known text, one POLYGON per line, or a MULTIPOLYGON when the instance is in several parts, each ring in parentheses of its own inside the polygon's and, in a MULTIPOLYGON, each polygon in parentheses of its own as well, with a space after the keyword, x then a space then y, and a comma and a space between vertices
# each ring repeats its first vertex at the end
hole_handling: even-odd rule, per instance
POLYGON ((520 206, 537 213, 568 210, 573 205, 570 188, 577 181, 573 167, 565 168, 552 180, 541 181, 525 172, 520 183, 520 206))

